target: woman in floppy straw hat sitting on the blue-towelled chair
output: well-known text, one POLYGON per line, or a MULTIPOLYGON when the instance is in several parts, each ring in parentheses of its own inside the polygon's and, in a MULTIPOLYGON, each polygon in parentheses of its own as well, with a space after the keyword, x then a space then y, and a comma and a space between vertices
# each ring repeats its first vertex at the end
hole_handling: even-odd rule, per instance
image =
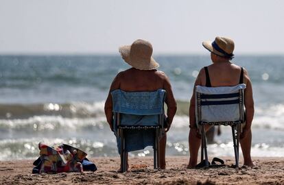
MULTIPOLYGON (((121 89, 129 92, 133 91, 154 91, 163 88, 167 91, 165 103, 167 103, 167 130, 176 114, 176 100, 171 90, 169 78, 162 71, 158 71, 159 64, 152 58, 153 47, 146 40, 135 40, 132 45, 119 47, 119 53, 125 62, 132 68, 122 71, 113 80, 110 92, 121 89)), ((106 99, 105 113, 110 129, 113 131, 113 100, 110 93, 106 99)), ((165 169, 165 145, 167 136, 163 136, 160 141, 161 169, 165 169)))

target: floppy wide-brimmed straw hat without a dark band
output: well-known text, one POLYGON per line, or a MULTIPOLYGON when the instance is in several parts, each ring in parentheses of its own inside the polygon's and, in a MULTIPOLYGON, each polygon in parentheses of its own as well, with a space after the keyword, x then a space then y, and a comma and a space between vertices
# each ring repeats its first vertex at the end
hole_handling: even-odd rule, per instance
POLYGON ((153 47, 147 40, 135 40, 132 45, 119 47, 119 53, 130 66, 140 70, 152 70, 160 66, 152 58, 153 47))

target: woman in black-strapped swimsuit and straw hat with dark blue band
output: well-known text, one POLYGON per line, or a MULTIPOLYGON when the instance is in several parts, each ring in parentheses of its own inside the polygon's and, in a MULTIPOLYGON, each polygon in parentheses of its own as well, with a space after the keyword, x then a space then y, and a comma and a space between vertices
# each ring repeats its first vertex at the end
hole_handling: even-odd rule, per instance
MULTIPOLYGON (((252 97, 252 84, 248 72, 245 69, 233 64, 233 51, 235 44, 230 38, 217 36, 213 42, 203 42, 202 45, 211 52, 213 64, 200 70, 194 86, 235 86, 239 83, 246 84, 245 107, 246 107, 246 125, 241 133, 241 149, 244 155, 244 165, 253 166, 250 157, 250 147, 252 141, 252 132, 250 130, 254 115, 254 102, 252 97)), ((195 90, 190 101, 189 108, 189 152, 190 159, 188 168, 194 168, 197 164, 198 149, 200 147, 200 136, 195 122, 195 90)))

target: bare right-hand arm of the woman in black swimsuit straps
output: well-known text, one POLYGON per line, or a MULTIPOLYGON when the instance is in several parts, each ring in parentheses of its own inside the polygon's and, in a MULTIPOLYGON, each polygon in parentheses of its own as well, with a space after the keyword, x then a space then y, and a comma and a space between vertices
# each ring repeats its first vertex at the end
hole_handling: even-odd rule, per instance
POLYGON ((252 97, 252 83, 250 82, 250 77, 248 77, 248 72, 244 71, 244 77, 246 78, 246 90, 245 90, 245 107, 246 107, 246 129, 250 129, 252 125, 252 119, 255 114, 254 101, 252 97))

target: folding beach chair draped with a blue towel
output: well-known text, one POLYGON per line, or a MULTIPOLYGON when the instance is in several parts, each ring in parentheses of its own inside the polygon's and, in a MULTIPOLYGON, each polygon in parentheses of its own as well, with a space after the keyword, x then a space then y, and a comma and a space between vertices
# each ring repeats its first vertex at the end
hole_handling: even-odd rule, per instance
POLYGON ((165 90, 149 92, 114 90, 111 95, 121 171, 126 171, 127 152, 144 149, 147 146, 153 146, 154 149, 154 169, 160 167, 159 140, 163 132, 165 90))

